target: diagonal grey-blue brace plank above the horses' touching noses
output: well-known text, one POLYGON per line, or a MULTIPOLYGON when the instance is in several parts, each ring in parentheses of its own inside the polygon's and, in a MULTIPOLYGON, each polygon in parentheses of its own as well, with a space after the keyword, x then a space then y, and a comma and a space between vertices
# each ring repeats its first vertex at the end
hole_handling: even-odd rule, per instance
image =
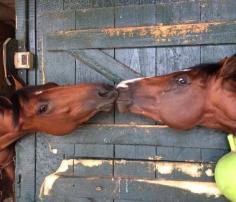
POLYGON ((100 50, 72 50, 67 53, 113 82, 142 77, 139 73, 100 50))

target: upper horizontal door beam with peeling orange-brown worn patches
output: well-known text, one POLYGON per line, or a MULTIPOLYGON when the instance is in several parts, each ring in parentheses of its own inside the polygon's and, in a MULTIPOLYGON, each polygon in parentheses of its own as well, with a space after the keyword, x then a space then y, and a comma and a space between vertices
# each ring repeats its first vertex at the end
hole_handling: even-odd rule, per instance
POLYGON ((59 31, 47 35, 50 51, 234 43, 236 21, 59 31))

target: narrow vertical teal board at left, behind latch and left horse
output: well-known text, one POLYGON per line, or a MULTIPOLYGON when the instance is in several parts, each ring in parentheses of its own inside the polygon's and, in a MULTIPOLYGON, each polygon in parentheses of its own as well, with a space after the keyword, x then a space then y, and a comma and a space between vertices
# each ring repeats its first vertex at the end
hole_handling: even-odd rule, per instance
MULTIPOLYGON (((35 54, 35 1, 17 0, 15 3, 16 39, 19 40, 19 51, 28 49, 35 54), (28 21, 26 21, 26 16, 28 16, 28 21)), ((18 74, 26 83, 35 84, 35 71, 22 70, 18 74)), ((35 200, 35 142, 35 135, 29 135, 18 141, 15 147, 15 196, 16 201, 19 202, 33 202, 35 200)))

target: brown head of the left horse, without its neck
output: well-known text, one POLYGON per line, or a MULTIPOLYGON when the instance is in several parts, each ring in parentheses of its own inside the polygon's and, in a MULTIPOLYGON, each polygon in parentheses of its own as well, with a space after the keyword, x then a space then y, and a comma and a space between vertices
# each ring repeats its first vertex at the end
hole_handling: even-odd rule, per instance
POLYGON ((64 135, 100 111, 109 111, 117 97, 114 87, 105 84, 32 88, 16 92, 21 109, 21 131, 64 135))

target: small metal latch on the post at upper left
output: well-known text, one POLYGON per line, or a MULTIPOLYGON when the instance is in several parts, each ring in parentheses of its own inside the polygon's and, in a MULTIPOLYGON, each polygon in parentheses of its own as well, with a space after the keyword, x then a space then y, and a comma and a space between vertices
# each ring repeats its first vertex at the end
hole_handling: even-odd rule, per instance
POLYGON ((14 65, 16 69, 30 69, 33 67, 34 57, 31 52, 15 52, 14 65))

